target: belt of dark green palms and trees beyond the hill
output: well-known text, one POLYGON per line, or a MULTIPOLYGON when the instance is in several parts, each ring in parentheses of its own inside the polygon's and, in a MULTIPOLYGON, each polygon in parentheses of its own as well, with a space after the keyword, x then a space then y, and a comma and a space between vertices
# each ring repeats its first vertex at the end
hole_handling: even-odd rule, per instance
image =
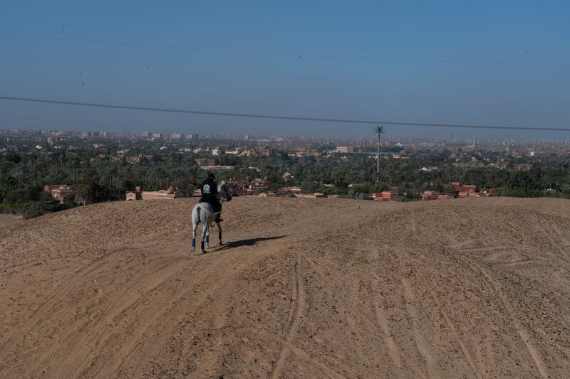
MULTIPOLYGON (((144 141, 131 141, 128 146, 128 154, 141 157, 137 163, 110 159, 125 148, 121 142, 105 141, 105 146, 97 149, 93 141, 82 139, 61 144, 58 149, 47 144, 37 149, 35 144, 19 143, 14 148, 12 142, 11 150, 0 153, 0 212, 35 217, 71 208, 76 203, 122 200, 125 191, 133 191, 135 186, 150 191, 175 186, 180 195, 191 196, 206 174, 196 159, 212 158, 188 154, 170 145, 160 149, 160 145, 144 141), (54 201, 43 192, 46 184, 72 186, 77 197, 63 203, 54 201)), ((0 139, 0 146, 7 146, 7 142, 0 139)), ((449 183, 460 181, 475 184, 480 190, 502 188, 499 196, 570 198, 570 161, 565 157, 531 160, 489 153, 488 159, 504 161, 504 168, 497 169, 471 168, 461 161, 457 164, 449 151, 427 151, 410 159, 380 156, 378 164, 374 153, 299 158, 274 150, 271 156, 227 154, 215 157, 215 161, 235 166, 231 171, 219 171, 219 180, 264 178, 271 183, 270 191, 281 186, 300 186, 304 191, 364 199, 370 193, 397 187, 401 195, 413 200, 427 189, 453 195, 449 183), (520 164, 527 164, 525 170, 517 171, 520 164)), ((465 162, 470 163, 469 157, 465 162)))

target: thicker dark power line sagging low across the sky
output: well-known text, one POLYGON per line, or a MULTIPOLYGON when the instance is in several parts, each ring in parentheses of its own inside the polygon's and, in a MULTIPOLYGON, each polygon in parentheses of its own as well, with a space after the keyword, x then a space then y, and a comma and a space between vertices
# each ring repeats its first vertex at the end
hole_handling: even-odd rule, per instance
POLYGON ((570 132, 570 127, 517 127, 517 126, 499 126, 499 125, 435 124, 427 122, 401 122, 401 121, 364 120, 364 119, 331 119, 331 118, 321 118, 321 117, 279 116, 274 114, 210 112, 203 110, 176 110, 176 109, 167 109, 167 108, 135 107, 130 105, 98 104, 93 102, 69 102, 61 100, 32 99, 29 97, 12 97, 12 96, 0 96, 0 100, 41 102, 47 104, 111 108, 118 110, 142 110, 147 112, 203 114, 207 116, 247 117, 254 119, 285 119, 291 121, 306 121, 306 122, 338 122, 343 124, 371 124, 371 125, 388 124, 388 125, 401 125, 401 126, 411 126, 411 127, 447 127, 447 128, 465 128, 465 129, 509 129, 509 130, 541 130, 541 131, 552 131, 552 132, 570 132))

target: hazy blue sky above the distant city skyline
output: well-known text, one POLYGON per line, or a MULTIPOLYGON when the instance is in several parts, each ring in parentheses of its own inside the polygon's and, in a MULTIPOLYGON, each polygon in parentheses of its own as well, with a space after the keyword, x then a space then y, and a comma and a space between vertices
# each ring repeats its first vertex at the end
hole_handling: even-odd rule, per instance
MULTIPOLYGON (((569 18, 569 1, 3 0, 4 34, 293 55, 0 36, 0 95, 307 117, 570 127, 569 18), (306 56, 311 54, 562 64, 306 56)), ((10 114, 165 132, 368 136, 373 129, 6 100, 0 100, 0 114, 0 128, 120 130, 5 116, 10 114)), ((569 137, 386 127, 386 137, 569 137)))

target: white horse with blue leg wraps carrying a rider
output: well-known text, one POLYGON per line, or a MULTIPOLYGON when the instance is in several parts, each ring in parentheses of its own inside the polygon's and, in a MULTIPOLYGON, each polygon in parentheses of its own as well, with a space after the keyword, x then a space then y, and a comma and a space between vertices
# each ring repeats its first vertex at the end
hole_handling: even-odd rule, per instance
MULTIPOLYGON (((227 181, 222 181, 222 184, 218 186, 218 193, 216 198, 219 201, 231 201, 232 200, 232 189, 229 188, 229 183, 227 181)), ((222 212, 214 212, 212 205, 208 203, 197 203, 192 209, 192 253, 196 252, 196 231, 198 229, 198 224, 202 223, 202 252, 204 250, 204 242, 209 248, 209 225, 211 223, 216 223, 218 225, 218 238, 219 244, 222 245, 222 227, 219 221, 216 220, 217 215, 222 212)))

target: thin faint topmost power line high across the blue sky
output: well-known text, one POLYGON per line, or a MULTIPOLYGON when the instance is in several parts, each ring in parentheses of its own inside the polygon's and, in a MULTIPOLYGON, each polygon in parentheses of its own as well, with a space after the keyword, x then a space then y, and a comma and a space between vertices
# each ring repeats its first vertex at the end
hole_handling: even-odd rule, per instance
POLYGON ((30 36, 26 34, 13 34, 13 33, 0 33, 2 37, 11 38, 28 38, 43 41, 64 41, 75 43, 90 43, 97 45, 113 45, 113 46, 132 46, 138 48, 159 48, 168 50, 192 50, 192 51, 207 51, 212 53, 232 53, 232 54, 249 54, 249 55, 277 55, 287 56, 293 58, 333 58, 333 59, 353 59, 353 60, 392 60, 400 62, 431 62, 431 63, 473 63, 473 64, 489 64, 489 65, 559 65, 569 66, 568 62, 524 62, 517 60, 470 60, 470 59, 444 59, 444 58, 402 58, 402 57, 366 57, 359 55, 328 55, 328 54, 315 54, 315 53, 283 53, 276 51, 261 51, 261 50, 231 50, 222 48, 198 48, 192 46, 168 46, 168 45, 154 45, 149 43, 130 43, 121 41, 98 41, 98 40, 84 40, 77 38, 61 38, 61 37, 44 37, 44 36, 30 36))

